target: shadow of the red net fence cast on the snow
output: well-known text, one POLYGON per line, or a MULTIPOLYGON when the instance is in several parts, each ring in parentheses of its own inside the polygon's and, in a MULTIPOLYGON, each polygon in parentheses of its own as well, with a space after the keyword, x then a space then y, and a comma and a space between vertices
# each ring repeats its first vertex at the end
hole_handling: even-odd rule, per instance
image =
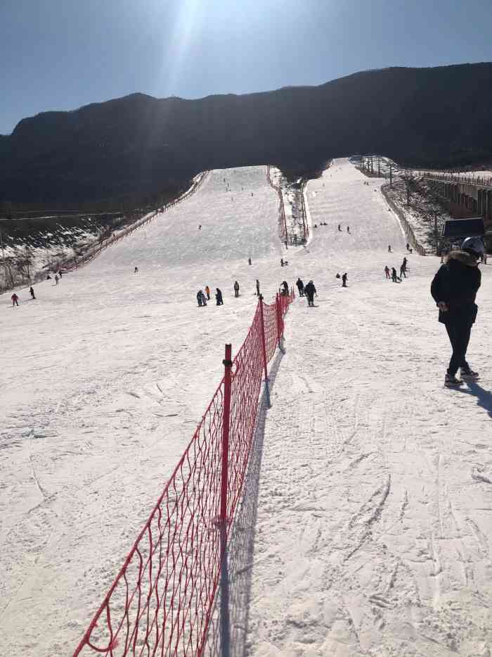
MULTIPOLYGON (((273 358, 268 381, 270 392, 275 385, 280 363, 285 349, 279 350, 273 358)), ((254 429, 254 438, 250 458, 245 473, 242 496, 233 520, 231 536, 227 547, 228 561, 228 597, 229 617, 231 620, 231 646, 228 654, 231 657, 245 657, 247 647, 247 630, 250 612, 254 539, 256 535, 257 510, 259 497, 259 478, 261 472, 261 459, 263 457, 263 444, 265 436, 265 423, 268 414, 268 395, 264 385, 259 401, 257 424, 254 429)), ((221 618, 220 618, 220 592, 217 589, 214 611, 210 619, 207 644, 204 653, 209 657, 219 657, 223 654, 221 649, 221 618)))

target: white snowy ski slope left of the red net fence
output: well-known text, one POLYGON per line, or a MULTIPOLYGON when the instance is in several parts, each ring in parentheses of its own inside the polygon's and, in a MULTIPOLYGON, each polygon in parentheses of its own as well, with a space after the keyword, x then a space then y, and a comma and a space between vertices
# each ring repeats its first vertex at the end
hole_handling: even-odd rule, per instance
POLYGON ((224 344, 245 339, 256 278, 267 301, 283 280, 280 256, 266 167, 214 171, 35 301, 0 296, 2 656, 72 654, 221 380, 224 344))

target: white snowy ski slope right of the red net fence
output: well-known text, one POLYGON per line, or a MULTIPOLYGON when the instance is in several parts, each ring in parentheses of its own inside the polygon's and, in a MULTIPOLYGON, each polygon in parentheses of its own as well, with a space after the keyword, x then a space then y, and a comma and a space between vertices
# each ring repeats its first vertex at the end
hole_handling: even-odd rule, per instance
POLYGON ((292 306, 266 420, 246 653, 485 657, 492 268, 469 350, 483 375, 449 391, 429 296, 439 258, 413 254, 407 280, 384 280, 404 239, 382 180, 364 182, 335 161, 309 183, 318 228, 292 270, 313 278, 317 307, 292 306))

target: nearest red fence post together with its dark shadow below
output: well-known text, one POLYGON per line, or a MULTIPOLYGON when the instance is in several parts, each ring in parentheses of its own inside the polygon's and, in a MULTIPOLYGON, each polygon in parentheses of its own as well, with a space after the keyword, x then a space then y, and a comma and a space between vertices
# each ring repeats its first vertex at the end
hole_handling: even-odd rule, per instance
POLYGON ((232 346, 226 344, 224 358, 224 413, 222 415, 222 473, 221 473, 221 656, 229 657, 231 622, 229 619, 229 578, 227 568, 227 489, 229 463, 229 427, 231 425, 231 360, 232 346))

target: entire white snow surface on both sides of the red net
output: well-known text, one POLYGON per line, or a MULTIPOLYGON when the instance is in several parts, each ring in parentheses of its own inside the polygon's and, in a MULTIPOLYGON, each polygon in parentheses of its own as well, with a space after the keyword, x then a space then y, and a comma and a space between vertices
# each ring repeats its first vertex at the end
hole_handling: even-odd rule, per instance
POLYGON ((491 275, 469 351, 481 380, 444 389, 439 260, 413 254, 407 280, 384 279, 405 239, 382 182, 335 161, 307 187, 309 246, 285 251, 266 168, 214 171, 36 300, 0 297, 1 654, 72 653, 219 383, 224 343, 245 337, 254 280, 268 300, 300 275, 318 298, 290 309, 272 382, 245 653, 490 656, 491 275), (197 308, 206 284, 224 306, 197 308))

